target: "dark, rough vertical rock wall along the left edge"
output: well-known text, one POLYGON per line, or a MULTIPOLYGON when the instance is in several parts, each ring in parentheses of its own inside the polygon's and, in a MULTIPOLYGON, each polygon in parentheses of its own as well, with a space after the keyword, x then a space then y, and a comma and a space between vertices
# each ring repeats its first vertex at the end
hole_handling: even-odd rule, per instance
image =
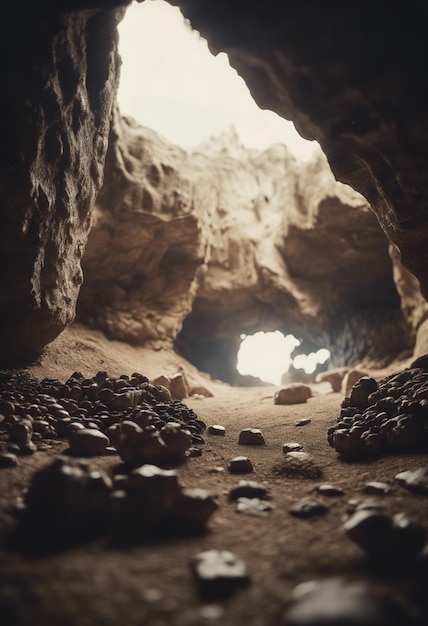
POLYGON ((122 11, 1 8, 0 361, 72 321, 102 184, 122 11))

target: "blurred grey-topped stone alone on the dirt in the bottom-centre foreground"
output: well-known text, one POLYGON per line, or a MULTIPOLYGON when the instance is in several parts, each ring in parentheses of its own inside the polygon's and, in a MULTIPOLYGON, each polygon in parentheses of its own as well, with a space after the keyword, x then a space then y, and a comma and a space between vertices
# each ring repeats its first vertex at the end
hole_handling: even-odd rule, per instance
POLYGON ((229 550, 207 550, 192 561, 200 595, 206 600, 225 598, 250 582, 247 567, 229 550))

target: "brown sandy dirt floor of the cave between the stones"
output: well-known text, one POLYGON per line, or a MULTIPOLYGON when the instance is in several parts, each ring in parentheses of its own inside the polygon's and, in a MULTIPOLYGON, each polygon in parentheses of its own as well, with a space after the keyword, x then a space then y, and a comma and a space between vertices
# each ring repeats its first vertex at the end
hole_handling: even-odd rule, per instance
MULTIPOLYGON (((112 547, 100 539, 50 556, 23 556, 8 547, 7 540, 16 498, 28 486, 34 471, 51 462, 67 444, 53 443, 46 451, 22 456, 17 467, 0 470, 0 623, 272 626, 287 623, 281 615, 298 583, 331 576, 370 581, 390 591, 411 612, 424 615, 425 567, 373 564, 346 536, 342 526, 349 501, 369 497, 364 493, 368 481, 391 485, 390 494, 376 496, 390 513, 405 511, 428 526, 426 498, 394 482, 398 472, 425 465, 426 458, 396 455, 366 463, 341 461, 328 446, 326 432, 335 423, 342 396, 327 393, 328 386, 314 386, 313 397, 304 404, 278 406, 273 401, 274 387, 232 388, 199 374, 174 354, 108 342, 102 334, 78 326, 64 332, 31 371, 37 378, 65 380, 74 370, 85 376, 100 369, 111 376, 139 371, 154 378, 172 375, 180 368, 191 382, 205 385, 214 394, 212 398, 188 398, 184 402, 208 425, 226 428, 224 437, 205 434, 202 456, 188 459, 177 469, 186 487, 202 487, 217 494, 219 508, 207 532, 147 542, 143 539, 126 548, 112 547), (311 422, 296 426, 301 418, 310 418, 311 422), (266 445, 238 445, 239 432, 247 427, 260 428, 266 445), (301 443, 303 450, 313 455, 321 470, 319 478, 290 478, 281 473, 282 444, 286 441, 301 443), (228 472, 229 460, 237 455, 251 459, 252 474, 236 476, 228 472), (229 490, 242 478, 262 482, 268 488, 273 510, 266 517, 237 513, 236 504, 228 501, 229 490), (322 483, 341 487, 344 496, 314 494, 322 483), (326 504, 328 512, 312 519, 290 515, 290 506, 309 494, 326 504), (242 558, 250 584, 227 599, 202 599, 190 563, 197 553, 208 549, 231 550, 242 558)), ((94 464, 113 473, 120 459, 97 457, 94 464)), ((422 617, 421 623, 428 623, 428 618, 422 617)))

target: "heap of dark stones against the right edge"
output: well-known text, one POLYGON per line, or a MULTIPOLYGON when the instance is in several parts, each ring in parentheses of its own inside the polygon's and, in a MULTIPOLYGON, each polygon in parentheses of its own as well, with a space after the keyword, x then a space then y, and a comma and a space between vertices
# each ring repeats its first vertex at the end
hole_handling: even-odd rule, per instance
POLYGON ((428 448, 428 371, 413 366, 377 382, 364 376, 342 402, 329 444, 343 457, 428 448))

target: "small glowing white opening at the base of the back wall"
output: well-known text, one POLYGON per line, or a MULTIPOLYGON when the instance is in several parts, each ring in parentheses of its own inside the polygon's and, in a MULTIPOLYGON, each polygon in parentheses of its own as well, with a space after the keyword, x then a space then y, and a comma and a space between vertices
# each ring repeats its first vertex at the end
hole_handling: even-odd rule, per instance
POLYGON ((284 335, 279 330, 243 334, 238 350, 237 370, 242 376, 253 376, 263 382, 280 385, 290 366, 295 370, 296 378, 299 377, 299 370, 303 378, 313 374, 318 365, 324 365, 330 359, 327 348, 294 355, 300 345, 301 341, 294 335, 284 335))

